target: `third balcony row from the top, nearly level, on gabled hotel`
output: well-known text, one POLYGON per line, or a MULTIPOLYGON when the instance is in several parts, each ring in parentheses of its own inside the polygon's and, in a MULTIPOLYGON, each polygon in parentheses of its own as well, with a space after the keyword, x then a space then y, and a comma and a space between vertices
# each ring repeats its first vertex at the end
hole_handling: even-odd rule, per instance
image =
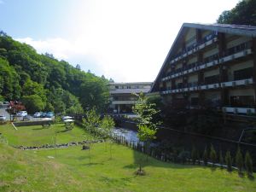
POLYGON ((228 81, 228 82, 222 82, 222 83, 216 83, 216 84, 198 85, 197 82, 194 82, 193 84, 194 86, 179 87, 177 89, 172 89, 172 90, 169 88, 168 90, 163 90, 160 93, 163 95, 166 95, 170 93, 183 93, 183 92, 196 91, 196 90, 211 90, 211 89, 218 89, 218 88, 225 88, 225 87, 235 87, 235 86, 253 84, 253 79, 242 79, 242 80, 228 81))

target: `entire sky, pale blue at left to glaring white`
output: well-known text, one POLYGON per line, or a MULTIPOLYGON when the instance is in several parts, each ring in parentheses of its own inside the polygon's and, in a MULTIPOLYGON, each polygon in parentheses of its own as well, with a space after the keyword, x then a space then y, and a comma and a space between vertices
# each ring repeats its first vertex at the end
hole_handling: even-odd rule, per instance
POLYGON ((154 81, 184 22, 215 23, 239 0, 0 0, 0 30, 115 82, 154 81))

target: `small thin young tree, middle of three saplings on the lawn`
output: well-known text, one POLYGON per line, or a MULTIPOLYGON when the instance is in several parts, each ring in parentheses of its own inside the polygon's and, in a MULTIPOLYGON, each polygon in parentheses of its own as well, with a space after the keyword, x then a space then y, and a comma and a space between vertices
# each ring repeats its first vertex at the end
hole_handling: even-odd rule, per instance
MULTIPOLYGON (((110 139, 110 148, 109 148, 109 152, 110 152, 110 159, 112 159, 112 131, 113 131, 113 127, 114 127, 114 121, 110 116, 105 116, 100 124, 100 127, 102 128, 102 135, 104 140, 106 139, 110 139)), ((106 142, 106 141, 105 141, 106 142)))

